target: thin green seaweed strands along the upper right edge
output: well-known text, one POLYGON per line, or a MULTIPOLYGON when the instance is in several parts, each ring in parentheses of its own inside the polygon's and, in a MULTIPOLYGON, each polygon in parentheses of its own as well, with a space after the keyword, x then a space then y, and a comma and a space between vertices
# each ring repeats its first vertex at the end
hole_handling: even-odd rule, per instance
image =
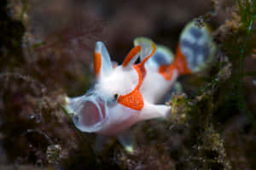
POLYGON ((253 72, 244 72, 244 60, 246 57, 251 57, 254 50, 255 29, 253 28, 253 21, 255 20, 255 14, 254 1, 238 0, 236 10, 233 13, 233 20, 226 22, 227 25, 236 26, 236 28, 233 27, 232 34, 227 34, 224 42, 220 44, 234 67, 237 68, 232 74, 232 91, 236 92, 236 95, 232 96, 236 97, 239 111, 247 114, 253 123, 253 127, 256 125, 256 118, 248 109, 244 96, 244 77, 252 76, 253 72), (234 24, 237 22, 239 24, 234 24))

